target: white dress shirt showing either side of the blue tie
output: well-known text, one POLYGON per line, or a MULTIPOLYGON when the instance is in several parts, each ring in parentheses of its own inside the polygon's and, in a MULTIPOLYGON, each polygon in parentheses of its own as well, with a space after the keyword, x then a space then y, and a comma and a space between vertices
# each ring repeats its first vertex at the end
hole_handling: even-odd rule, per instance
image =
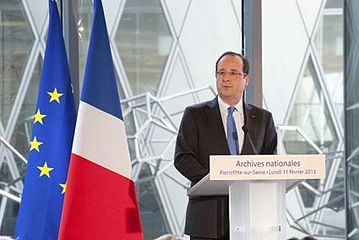
MULTIPOLYGON (((230 105, 225 103, 220 96, 218 96, 218 105, 219 105, 219 111, 221 112, 224 131, 227 136, 227 116, 228 116, 228 108, 230 107, 230 105)), ((233 112, 233 118, 236 123, 236 129, 239 139, 239 152, 241 152, 243 141, 244 141, 244 132, 242 130, 242 126, 244 125, 243 100, 241 99, 233 107, 236 108, 236 110, 233 112)))

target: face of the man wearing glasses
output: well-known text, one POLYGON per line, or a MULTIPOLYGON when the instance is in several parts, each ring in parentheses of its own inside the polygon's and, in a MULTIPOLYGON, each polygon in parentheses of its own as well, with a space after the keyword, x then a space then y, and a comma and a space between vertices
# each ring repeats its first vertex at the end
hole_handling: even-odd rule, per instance
POLYGON ((231 106, 239 102, 250 79, 243 73, 243 60, 233 55, 224 56, 218 62, 216 78, 218 95, 231 106))

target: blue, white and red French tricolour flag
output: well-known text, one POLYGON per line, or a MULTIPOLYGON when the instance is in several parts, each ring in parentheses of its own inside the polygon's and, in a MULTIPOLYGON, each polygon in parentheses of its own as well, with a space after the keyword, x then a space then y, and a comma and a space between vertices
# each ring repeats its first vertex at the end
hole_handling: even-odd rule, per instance
POLYGON ((59 239, 143 239, 100 0, 80 100, 59 239))

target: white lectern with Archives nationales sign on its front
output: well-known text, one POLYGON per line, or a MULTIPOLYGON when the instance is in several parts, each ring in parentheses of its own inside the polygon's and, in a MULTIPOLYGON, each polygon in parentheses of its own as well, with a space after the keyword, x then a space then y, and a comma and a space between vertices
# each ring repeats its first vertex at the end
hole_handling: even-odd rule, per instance
POLYGON ((321 154, 211 156, 209 174, 188 195, 229 195, 231 240, 284 240, 286 191, 324 177, 321 154))

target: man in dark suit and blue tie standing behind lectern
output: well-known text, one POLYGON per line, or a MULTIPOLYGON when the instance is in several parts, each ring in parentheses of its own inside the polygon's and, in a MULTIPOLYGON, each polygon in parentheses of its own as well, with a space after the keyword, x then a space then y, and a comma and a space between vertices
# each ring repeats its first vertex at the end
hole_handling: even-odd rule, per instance
MULTIPOLYGON (((175 167, 191 181, 191 186, 208 174, 210 155, 276 153, 272 114, 243 101, 243 91, 250 80, 248 70, 242 55, 222 54, 216 62, 218 96, 187 107, 183 114, 175 167), (230 107, 234 107, 233 113, 229 113, 230 107), (227 125, 231 122, 229 115, 234 118, 235 134, 229 134, 227 129, 232 129, 227 125), (232 135, 237 144, 235 152, 227 140, 232 135)), ((229 239, 228 196, 189 197, 185 233, 191 239, 229 239)))

